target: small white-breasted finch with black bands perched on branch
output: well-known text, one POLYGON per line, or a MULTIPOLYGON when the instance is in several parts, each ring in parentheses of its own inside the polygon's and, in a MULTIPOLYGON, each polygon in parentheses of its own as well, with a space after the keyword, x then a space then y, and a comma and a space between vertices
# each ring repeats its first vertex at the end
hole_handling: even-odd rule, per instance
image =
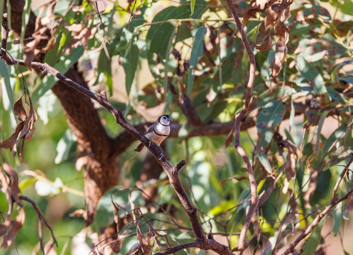
MULTIPOLYGON (((161 149, 161 142, 169 136, 170 133, 170 127, 169 123, 170 121, 173 121, 172 118, 170 118, 169 115, 164 114, 160 117, 158 117, 157 121, 153 123, 147 130, 144 132, 145 137, 147 137, 150 140, 150 144, 148 147, 151 146, 151 142, 155 142, 158 146, 158 148, 161 151, 161 158, 163 157, 163 151, 161 149)), ((140 152, 144 147, 143 143, 140 143, 138 146, 136 146, 134 152, 140 152)))

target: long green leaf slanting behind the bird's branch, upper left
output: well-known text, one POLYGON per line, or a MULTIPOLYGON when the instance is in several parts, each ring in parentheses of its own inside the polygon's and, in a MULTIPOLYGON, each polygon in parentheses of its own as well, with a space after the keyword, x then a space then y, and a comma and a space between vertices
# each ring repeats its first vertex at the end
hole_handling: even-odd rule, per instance
MULTIPOLYGON (((73 48, 69 56, 61 56, 60 60, 53 67, 60 73, 64 74, 67 70, 77 62, 77 60, 82 56, 84 49, 82 46, 73 48), (69 58, 70 57, 70 58, 69 58)), ((58 78, 50 75, 49 73, 44 76, 40 84, 35 87, 32 92, 32 102, 36 103, 38 99, 44 95, 49 89, 51 89, 54 84, 58 81, 58 78)))

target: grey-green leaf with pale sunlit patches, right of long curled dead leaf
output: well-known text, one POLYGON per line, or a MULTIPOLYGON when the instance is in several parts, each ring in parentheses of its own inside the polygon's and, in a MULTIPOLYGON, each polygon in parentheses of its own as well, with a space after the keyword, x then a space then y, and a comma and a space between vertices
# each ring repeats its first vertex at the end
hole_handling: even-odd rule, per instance
POLYGON ((327 93, 324 79, 320 75, 319 71, 317 71, 317 69, 312 64, 308 63, 304 59, 304 57, 297 56, 295 67, 305 79, 311 82, 312 86, 314 87, 314 90, 312 91, 312 93, 314 94, 327 93))

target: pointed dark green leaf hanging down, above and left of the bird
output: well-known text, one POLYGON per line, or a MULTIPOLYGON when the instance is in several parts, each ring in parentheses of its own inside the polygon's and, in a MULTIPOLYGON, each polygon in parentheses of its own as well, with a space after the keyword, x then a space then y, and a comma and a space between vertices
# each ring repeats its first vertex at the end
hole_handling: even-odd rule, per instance
POLYGON ((125 86, 127 95, 130 94, 131 85, 135 78, 138 56, 139 49, 136 42, 133 42, 131 47, 126 51, 125 56, 121 58, 121 65, 125 70, 125 86))

